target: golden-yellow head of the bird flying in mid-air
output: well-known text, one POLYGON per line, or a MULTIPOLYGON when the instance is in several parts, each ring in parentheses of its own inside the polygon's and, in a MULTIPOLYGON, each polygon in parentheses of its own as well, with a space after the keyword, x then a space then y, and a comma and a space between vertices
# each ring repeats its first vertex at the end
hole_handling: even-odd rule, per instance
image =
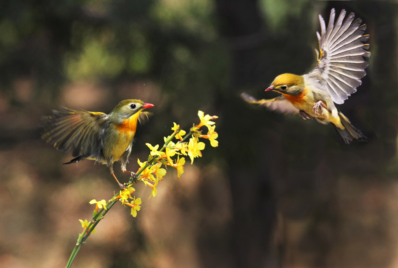
POLYGON ((278 75, 265 91, 270 90, 284 95, 296 96, 304 90, 304 78, 296 74, 278 75))

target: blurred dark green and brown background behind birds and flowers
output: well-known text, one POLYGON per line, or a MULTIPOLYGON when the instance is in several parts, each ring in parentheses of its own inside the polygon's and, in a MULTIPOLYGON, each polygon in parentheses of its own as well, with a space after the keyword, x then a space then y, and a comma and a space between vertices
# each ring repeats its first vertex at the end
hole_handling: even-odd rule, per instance
MULTIPOLYGON (((0 267, 65 267, 91 199, 118 187, 94 161, 40 139, 63 105, 109 113, 155 105, 129 170, 173 122, 217 115, 219 147, 137 186, 137 218, 115 206, 75 259, 84 268, 398 267, 396 1, 20 0, 0 2, 0 267), (244 103, 280 73, 315 64, 318 14, 355 12, 370 34, 368 75, 341 105, 369 143, 244 103)), ((128 176, 116 176, 126 181, 128 176)))

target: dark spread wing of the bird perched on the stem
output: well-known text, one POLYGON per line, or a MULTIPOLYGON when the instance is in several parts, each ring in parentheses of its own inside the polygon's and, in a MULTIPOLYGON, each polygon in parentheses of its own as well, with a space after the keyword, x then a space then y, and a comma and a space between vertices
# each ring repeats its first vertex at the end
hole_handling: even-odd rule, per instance
POLYGON ((108 115, 66 107, 60 107, 59 111, 52 112, 53 116, 41 118, 44 125, 42 139, 57 150, 73 150, 74 157, 79 155, 99 157, 101 136, 108 115))

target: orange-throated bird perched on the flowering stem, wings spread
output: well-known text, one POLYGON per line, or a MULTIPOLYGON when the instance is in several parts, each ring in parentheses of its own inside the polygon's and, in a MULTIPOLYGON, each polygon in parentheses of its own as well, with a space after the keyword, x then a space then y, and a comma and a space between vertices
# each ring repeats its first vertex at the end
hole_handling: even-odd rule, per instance
POLYGON ((148 119, 150 113, 143 110, 150 107, 153 104, 124 100, 107 115, 61 106, 59 111, 52 110, 53 116, 41 118, 44 125, 41 138, 57 150, 72 151, 75 158, 64 164, 83 159, 95 160, 105 164, 119 186, 123 187, 113 173, 113 163, 119 161, 122 172, 134 175, 134 172, 126 170, 126 163, 137 121, 141 123, 148 119))

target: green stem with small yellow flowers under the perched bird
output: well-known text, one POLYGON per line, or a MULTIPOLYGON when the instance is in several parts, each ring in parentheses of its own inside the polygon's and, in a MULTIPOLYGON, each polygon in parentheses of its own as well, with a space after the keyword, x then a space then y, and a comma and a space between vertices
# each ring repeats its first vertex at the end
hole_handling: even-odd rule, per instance
POLYGON ((66 268, 70 268, 72 263, 78 254, 82 245, 86 242, 87 238, 96 233, 95 227, 104 218, 105 214, 112 208, 112 206, 120 201, 123 206, 128 206, 131 208, 131 215, 135 218, 138 211, 141 209, 141 198, 136 198, 131 196, 135 192, 132 187, 134 183, 142 182, 144 185, 152 188, 151 196, 155 197, 157 195, 156 186, 159 181, 163 181, 163 176, 166 175, 166 169, 162 166, 171 166, 177 169, 177 176, 180 179, 181 175, 184 173, 185 157, 188 156, 191 159, 191 164, 194 162, 194 158, 201 157, 201 150, 204 149, 205 144, 199 141, 199 138, 205 138, 210 141, 210 145, 213 147, 218 146, 218 141, 216 138, 218 134, 215 130, 215 123, 211 120, 217 119, 217 116, 204 115, 202 111, 198 112, 200 123, 195 125, 190 129, 187 134, 184 130, 180 129, 180 125, 173 123, 172 131, 174 131, 170 136, 164 137, 164 144, 159 149, 159 145, 152 146, 150 143, 146 143, 148 148, 151 150, 147 161, 141 162, 137 159, 140 168, 136 173, 136 177, 131 177, 124 185, 124 188, 116 193, 111 199, 106 202, 105 200, 97 201, 95 199, 90 201, 90 204, 96 204, 91 221, 87 219, 79 220, 82 224, 83 231, 79 234, 75 248, 69 258, 66 268), (207 128, 207 134, 202 134, 202 127, 207 128), (189 141, 186 140, 189 138, 189 141), (173 140, 177 139, 177 142, 173 140), (159 149, 159 150, 158 150, 159 149))

